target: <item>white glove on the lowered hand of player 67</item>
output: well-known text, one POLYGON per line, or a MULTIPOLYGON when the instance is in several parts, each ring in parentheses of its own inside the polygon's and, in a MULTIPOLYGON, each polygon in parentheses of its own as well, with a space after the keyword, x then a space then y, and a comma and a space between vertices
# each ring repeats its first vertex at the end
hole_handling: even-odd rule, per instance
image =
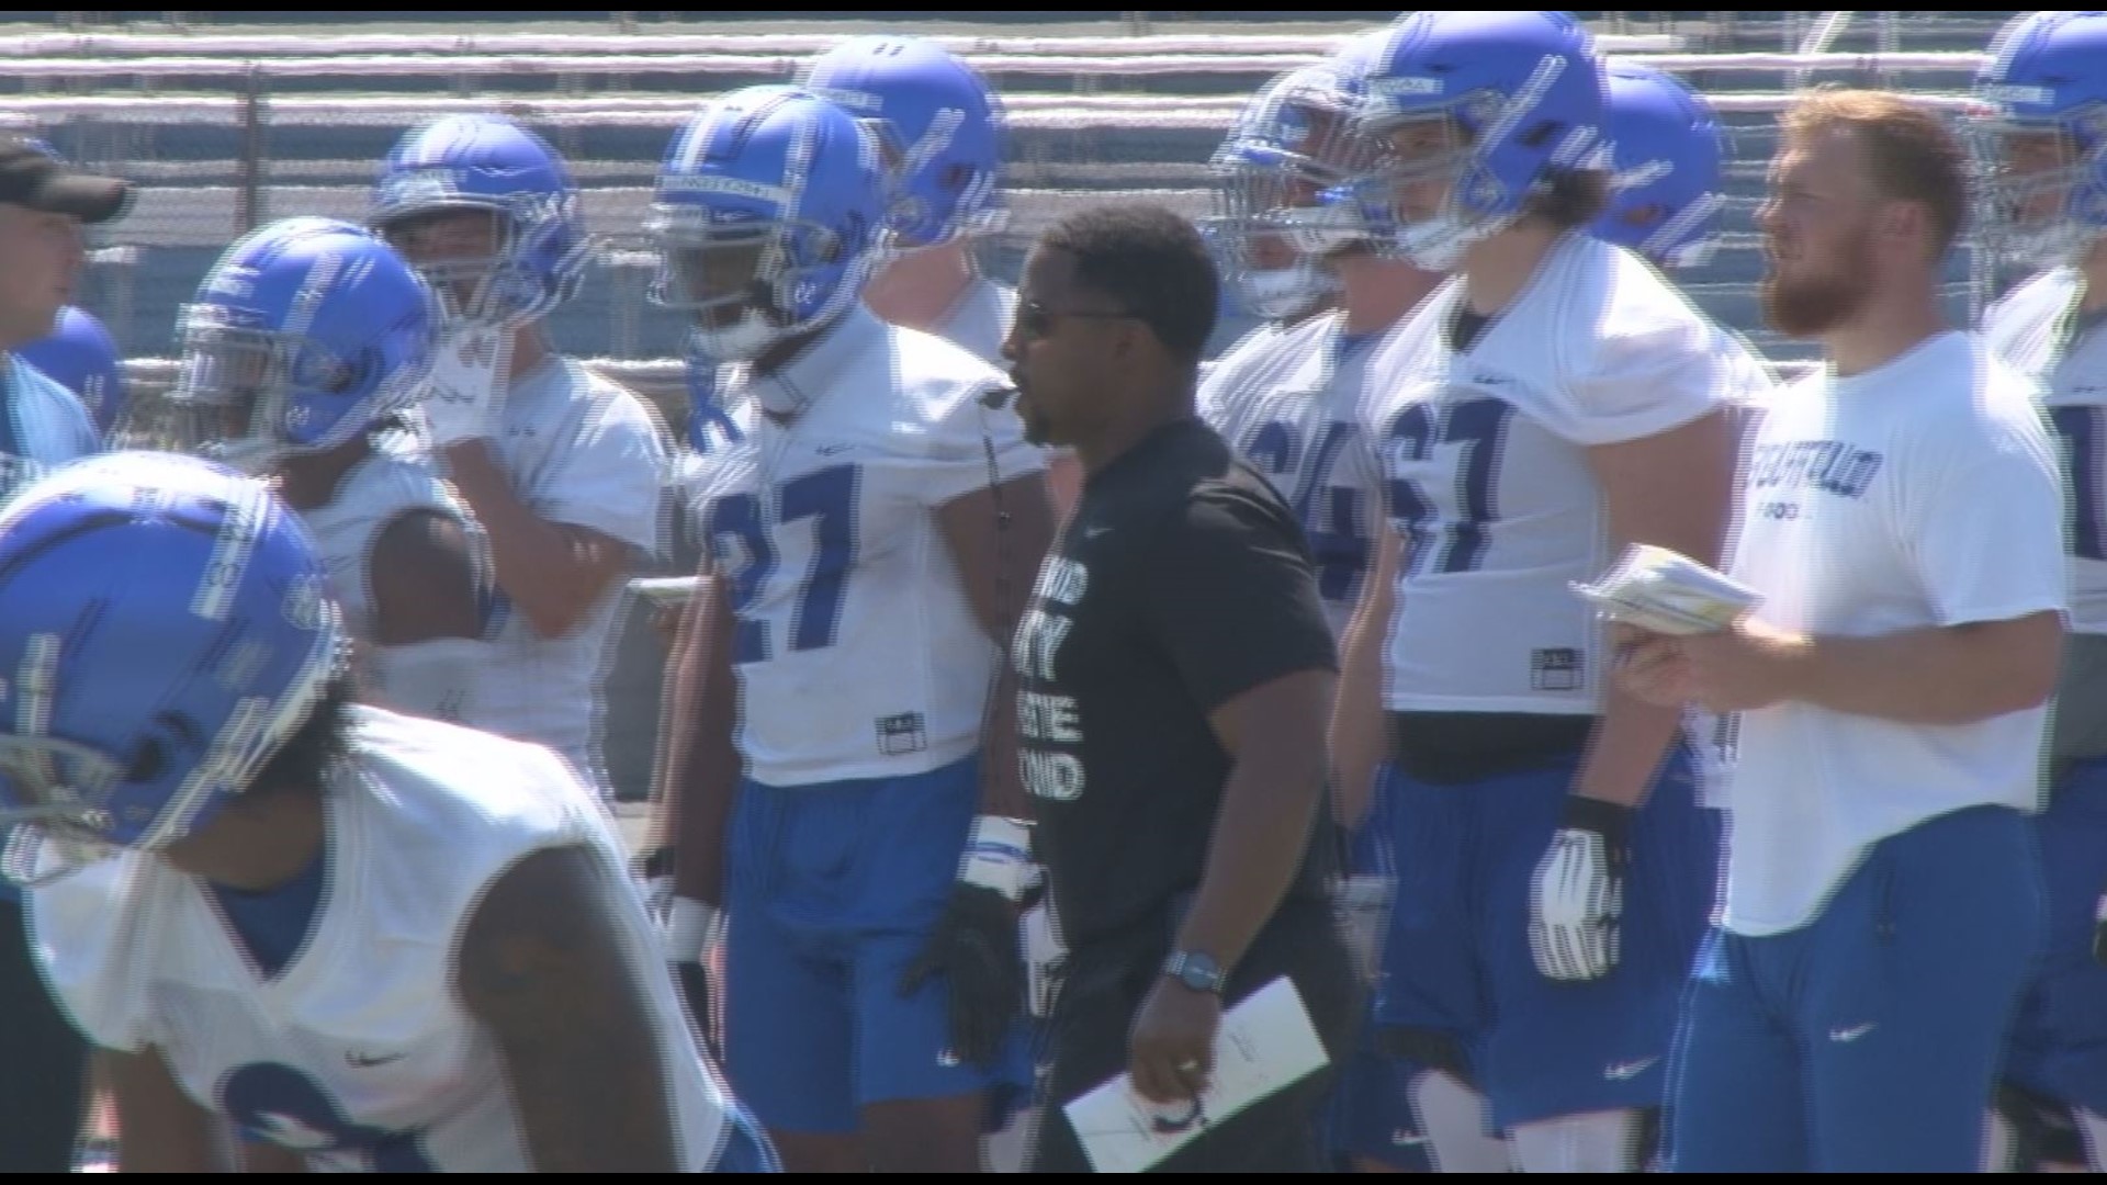
POLYGON ((1530 886, 1530 955, 1544 978, 1589 983, 1616 968, 1631 808, 1572 797, 1530 886))

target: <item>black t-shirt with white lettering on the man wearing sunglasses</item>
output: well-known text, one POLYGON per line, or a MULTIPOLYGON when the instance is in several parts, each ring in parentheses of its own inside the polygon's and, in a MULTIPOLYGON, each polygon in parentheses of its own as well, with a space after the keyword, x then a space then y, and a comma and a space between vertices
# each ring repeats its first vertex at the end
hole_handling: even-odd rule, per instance
MULTIPOLYGON (((1011 649, 1024 784, 1068 947, 1199 888, 1230 757, 1207 715, 1298 671, 1336 671, 1302 529, 1197 420, 1089 479, 1011 649)), ((1319 808, 1292 896, 1336 867, 1319 808)))

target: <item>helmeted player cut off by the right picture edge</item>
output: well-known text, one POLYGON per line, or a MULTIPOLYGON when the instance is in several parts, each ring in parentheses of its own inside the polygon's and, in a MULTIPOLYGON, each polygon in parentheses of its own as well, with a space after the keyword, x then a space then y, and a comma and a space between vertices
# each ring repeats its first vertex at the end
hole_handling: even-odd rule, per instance
POLYGON ((2014 17, 1978 91, 1989 108, 1972 120, 1991 177, 1985 247, 2040 268, 1989 310, 1983 329, 2042 386, 2071 506, 2071 633, 2050 721, 2048 810, 2033 820, 2048 873, 2048 955, 2014 1021, 1991 1168, 2090 1162, 2099 1170, 2107 1168, 2107 968, 2094 961, 2092 938, 2107 886, 2107 15, 2014 17), (2044 1107, 2075 1118, 2040 1122, 2044 1107), (2071 1132, 2084 1134, 2082 1145, 2071 1132))

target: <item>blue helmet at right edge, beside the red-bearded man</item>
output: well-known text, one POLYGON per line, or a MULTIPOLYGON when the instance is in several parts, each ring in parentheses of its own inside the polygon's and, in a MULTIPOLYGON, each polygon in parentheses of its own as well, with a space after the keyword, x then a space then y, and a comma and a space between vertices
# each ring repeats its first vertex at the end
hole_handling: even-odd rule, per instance
POLYGON ((1976 74, 1978 236, 2025 264, 2071 264, 2107 234, 2107 13, 2025 13, 1976 74))

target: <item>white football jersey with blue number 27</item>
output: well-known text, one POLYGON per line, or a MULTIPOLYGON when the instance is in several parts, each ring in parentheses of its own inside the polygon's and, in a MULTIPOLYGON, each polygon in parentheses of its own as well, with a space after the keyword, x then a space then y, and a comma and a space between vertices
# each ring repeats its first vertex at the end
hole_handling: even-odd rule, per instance
POLYGON ((1045 468, 1016 413, 982 403, 1007 386, 855 306, 737 396, 756 411, 712 451, 700 493, 740 616, 737 744, 754 780, 921 774, 978 749, 997 647, 936 510, 1045 468), (761 413, 799 405, 788 424, 761 413))

